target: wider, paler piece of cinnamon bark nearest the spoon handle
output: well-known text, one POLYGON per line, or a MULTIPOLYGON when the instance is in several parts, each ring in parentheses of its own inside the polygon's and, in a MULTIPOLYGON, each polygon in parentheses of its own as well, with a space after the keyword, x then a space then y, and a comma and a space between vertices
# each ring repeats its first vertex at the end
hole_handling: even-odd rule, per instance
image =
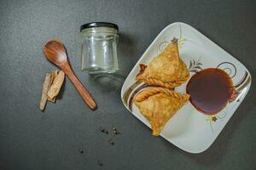
POLYGON ((53 99, 56 95, 59 94, 61 90, 62 83, 64 82, 65 73, 60 71, 58 75, 55 77, 54 81, 52 82, 49 91, 47 93, 49 99, 53 99))

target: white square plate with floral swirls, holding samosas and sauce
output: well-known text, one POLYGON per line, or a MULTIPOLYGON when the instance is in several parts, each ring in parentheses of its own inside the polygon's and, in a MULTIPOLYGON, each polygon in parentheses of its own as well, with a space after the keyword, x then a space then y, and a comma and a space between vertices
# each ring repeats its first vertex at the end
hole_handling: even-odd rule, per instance
MULTIPOLYGON (((188 102, 166 123, 160 136, 182 150, 190 153, 200 153, 207 150, 213 143, 241 104, 251 86, 251 75, 237 59, 192 26, 179 22, 166 26, 154 39, 154 42, 151 43, 141 59, 138 60, 126 78, 121 91, 121 98, 125 107, 148 127, 150 127, 149 122, 141 115, 137 106, 133 104, 134 96, 145 88, 143 82, 137 82, 136 80, 139 65, 148 65, 171 42, 173 37, 178 38, 179 54, 189 69, 190 77, 201 69, 218 67, 230 75, 238 94, 233 102, 212 116, 202 114, 188 102), (200 65, 198 65, 199 63, 200 65)), ((184 83, 182 86, 175 88, 175 91, 184 94, 186 86, 187 83, 184 83)))

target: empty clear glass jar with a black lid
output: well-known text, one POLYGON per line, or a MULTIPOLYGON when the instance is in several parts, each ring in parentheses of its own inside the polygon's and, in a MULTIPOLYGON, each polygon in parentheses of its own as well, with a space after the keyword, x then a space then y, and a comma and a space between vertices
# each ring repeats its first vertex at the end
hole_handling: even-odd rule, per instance
POLYGON ((82 71, 97 74, 119 70, 118 31, 117 25, 107 22, 93 22, 81 26, 82 71))

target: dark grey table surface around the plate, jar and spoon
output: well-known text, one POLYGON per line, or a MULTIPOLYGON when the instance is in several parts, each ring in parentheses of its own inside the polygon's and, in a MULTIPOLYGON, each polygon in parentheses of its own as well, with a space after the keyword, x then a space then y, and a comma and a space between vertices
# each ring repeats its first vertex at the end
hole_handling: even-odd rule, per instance
POLYGON ((120 99, 133 65, 154 37, 176 21, 217 42, 256 79, 255 8, 253 0, 1 0, 0 169, 256 169, 254 82, 218 139, 197 155, 153 137, 120 99), (119 25, 120 71, 114 79, 80 71, 79 26, 90 21, 119 25), (39 111, 45 73, 55 68, 44 58, 42 47, 52 38, 66 45, 73 70, 96 99, 96 111, 84 105, 68 79, 61 99, 49 103, 44 113, 39 111), (110 132, 113 126, 119 136, 99 131, 106 127, 110 132))

